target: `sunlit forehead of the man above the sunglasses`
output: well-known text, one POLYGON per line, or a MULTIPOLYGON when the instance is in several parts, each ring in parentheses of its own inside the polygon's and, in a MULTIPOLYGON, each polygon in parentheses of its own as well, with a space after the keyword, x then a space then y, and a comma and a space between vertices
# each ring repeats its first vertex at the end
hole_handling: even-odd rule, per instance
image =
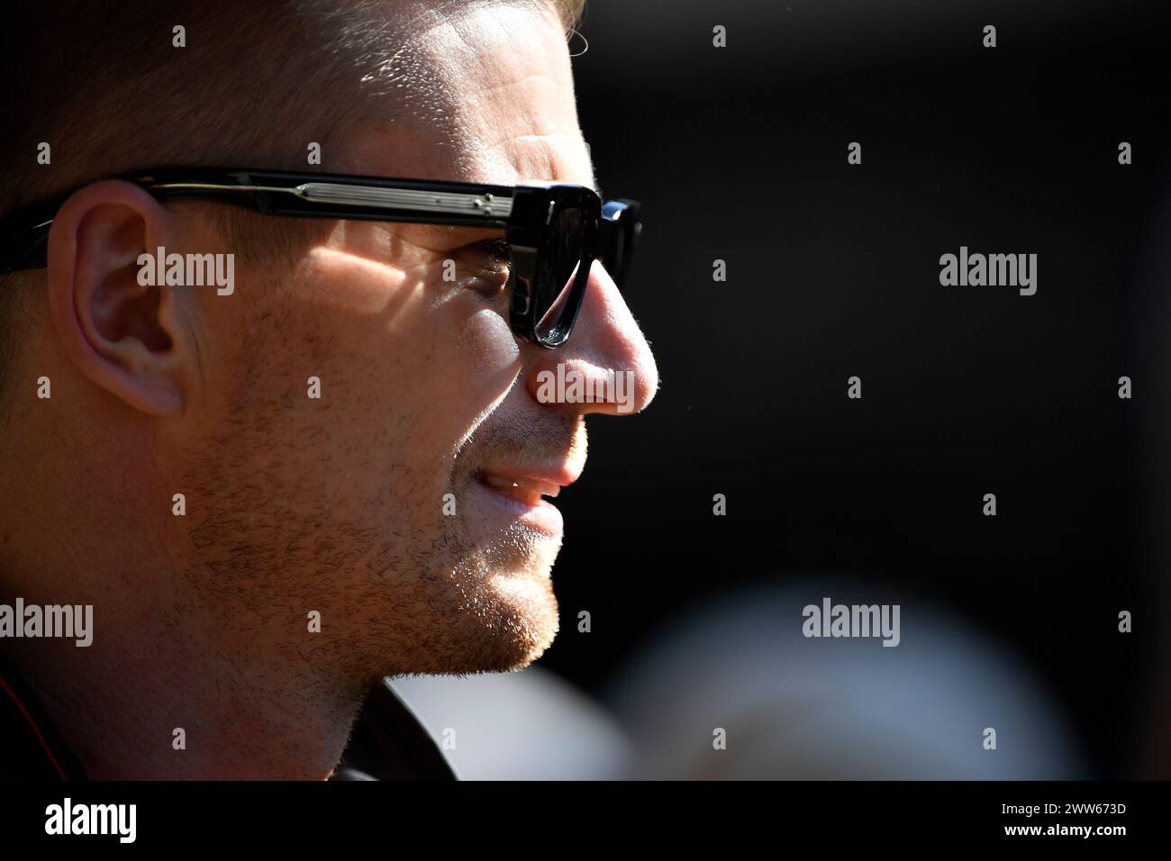
POLYGON ((354 172, 596 189, 552 13, 494 6, 432 22, 375 74, 383 86, 349 153, 354 172))

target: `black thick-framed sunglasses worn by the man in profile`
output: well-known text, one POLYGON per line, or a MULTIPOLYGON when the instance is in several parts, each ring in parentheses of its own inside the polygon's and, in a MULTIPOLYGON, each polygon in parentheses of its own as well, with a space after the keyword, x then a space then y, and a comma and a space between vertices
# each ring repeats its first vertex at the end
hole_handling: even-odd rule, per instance
MULTIPOLYGON (((563 183, 482 185, 237 168, 164 168, 119 177, 159 200, 219 200, 268 216, 500 227, 509 248, 509 322, 555 349, 573 332, 590 267, 621 288, 642 231, 635 200, 563 183)), ((69 193, 0 218, 0 273, 47 265, 49 226, 69 193)))

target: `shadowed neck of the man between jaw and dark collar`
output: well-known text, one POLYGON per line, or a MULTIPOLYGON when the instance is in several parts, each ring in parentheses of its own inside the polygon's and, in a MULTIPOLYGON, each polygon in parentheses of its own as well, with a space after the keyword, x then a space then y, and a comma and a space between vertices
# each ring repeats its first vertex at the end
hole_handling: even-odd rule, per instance
POLYGON ((197 642, 207 627, 123 622, 100 628, 88 648, 37 640, 11 652, 87 777, 329 777, 361 685, 338 690, 292 647, 263 647, 265 631, 197 642))

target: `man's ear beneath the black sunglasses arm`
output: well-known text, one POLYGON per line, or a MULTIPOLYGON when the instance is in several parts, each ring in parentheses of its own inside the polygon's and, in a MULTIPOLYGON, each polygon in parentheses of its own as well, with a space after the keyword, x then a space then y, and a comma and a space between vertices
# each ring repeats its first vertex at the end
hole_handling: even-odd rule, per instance
POLYGON ((156 248, 176 245, 176 232, 170 212, 121 180, 73 194, 49 228, 49 308, 66 355, 152 416, 183 411, 194 344, 180 315, 191 303, 173 287, 139 285, 138 257, 149 253, 153 266, 156 248))

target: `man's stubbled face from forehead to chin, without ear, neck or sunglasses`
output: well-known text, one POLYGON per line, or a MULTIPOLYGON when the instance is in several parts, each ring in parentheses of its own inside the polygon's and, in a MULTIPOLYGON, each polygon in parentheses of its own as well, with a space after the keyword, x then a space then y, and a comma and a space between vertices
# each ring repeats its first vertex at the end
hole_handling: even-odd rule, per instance
MULTIPOLYGON (((472 4, 398 60, 335 172, 593 185, 552 11, 472 4)), ((518 340, 487 235, 338 221, 238 266, 240 301, 199 298, 200 399, 162 446, 203 500, 171 540, 213 624, 239 627, 244 603, 287 661, 370 679, 518 668, 553 641, 562 525, 542 496, 580 474, 583 414, 617 410, 540 403, 536 376, 632 371, 637 410, 657 373, 601 264, 564 347, 518 340), (299 636, 313 610, 321 634, 299 636)))

